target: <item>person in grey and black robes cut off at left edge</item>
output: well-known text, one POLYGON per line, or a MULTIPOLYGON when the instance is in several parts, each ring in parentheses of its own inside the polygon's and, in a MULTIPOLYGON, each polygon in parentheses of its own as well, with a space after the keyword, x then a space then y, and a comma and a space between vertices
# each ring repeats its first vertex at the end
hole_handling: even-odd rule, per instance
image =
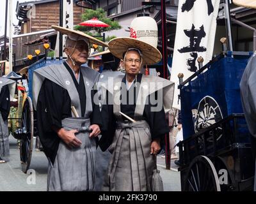
POLYGON ((10 101, 15 92, 15 81, 0 77, 0 164, 9 161, 10 147, 8 134, 8 115, 10 101))

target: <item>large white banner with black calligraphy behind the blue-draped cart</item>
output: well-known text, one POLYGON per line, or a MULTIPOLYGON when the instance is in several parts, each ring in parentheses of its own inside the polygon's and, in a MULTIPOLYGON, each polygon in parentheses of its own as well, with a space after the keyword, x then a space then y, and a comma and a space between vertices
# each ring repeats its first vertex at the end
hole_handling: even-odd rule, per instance
POLYGON ((219 5, 220 0, 179 1, 170 79, 175 82, 173 108, 180 109, 178 74, 183 73, 186 80, 198 71, 198 57, 204 58, 203 65, 212 59, 219 5))

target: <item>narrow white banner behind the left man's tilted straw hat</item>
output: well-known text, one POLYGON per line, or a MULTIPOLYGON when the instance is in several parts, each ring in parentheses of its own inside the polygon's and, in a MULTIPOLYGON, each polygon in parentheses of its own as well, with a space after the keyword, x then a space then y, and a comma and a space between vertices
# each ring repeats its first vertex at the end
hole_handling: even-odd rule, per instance
MULTIPOLYGON (((74 28, 74 17, 73 17, 73 1, 72 0, 63 0, 63 27, 69 28, 69 29, 73 29, 74 28)), ((66 36, 63 35, 63 49, 64 49, 64 45, 65 45, 65 38, 66 36)), ((58 32, 57 34, 57 39, 56 39, 56 47, 55 47, 55 52, 54 52, 54 56, 55 57, 59 57, 59 48, 60 48, 60 33, 58 32)), ((63 52, 63 57, 67 57, 65 55, 65 52, 63 52)))

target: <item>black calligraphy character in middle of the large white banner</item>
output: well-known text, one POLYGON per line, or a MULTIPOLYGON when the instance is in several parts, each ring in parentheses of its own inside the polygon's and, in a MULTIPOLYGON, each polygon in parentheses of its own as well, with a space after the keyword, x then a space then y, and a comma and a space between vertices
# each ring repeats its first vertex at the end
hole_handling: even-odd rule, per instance
POLYGON ((200 29, 195 29, 195 25, 192 24, 191 29, 184 30, 184 33, 189 37, 189 46, 182 47, 178 49, 178 51, 180 53, 191 52, 190 56, 192 59, 187 59, 187 65, 189 66, 188 70, 196 72, 196 58, 198 57, 197 52, 205 52, 207 50, 205 47, 200 46, 202 38, 204 38, 206 35, 204 31, 204 25, 202 25, 200 29))

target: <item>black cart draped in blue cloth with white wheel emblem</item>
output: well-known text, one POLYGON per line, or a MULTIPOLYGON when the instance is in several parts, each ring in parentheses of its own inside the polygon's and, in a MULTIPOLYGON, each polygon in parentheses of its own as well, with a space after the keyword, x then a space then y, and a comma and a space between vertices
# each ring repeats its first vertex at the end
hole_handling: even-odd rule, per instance
POLYGON ((180 78, 182 191, 252 191, 255 157, 239 83, 252 52, 222 52, 180 78))

